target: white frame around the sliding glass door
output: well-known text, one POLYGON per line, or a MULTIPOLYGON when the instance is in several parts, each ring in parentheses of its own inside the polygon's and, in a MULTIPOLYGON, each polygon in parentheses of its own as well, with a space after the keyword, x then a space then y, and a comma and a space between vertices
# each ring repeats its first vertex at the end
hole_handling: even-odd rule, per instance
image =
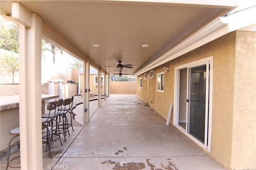
MULTIPOLYGON (((206 65, 206 69, 209 70, 208 64, 206 65)), ((188 69, 188 74, 187 74, 187 89, 188 89, 188 84, 189 84, 189 69, 188 69)), ((182 133, 184 133, 186 136, 188 136, 192 141, 200 145, 202 148, 206 149, 208 152, 211 152, 211 139, 212 139, 212 88, 213 88, 213 56, 206 57, 203 59, 199 59, 197 61, 193 61, 190 63, 182 64, 179 66, 176 66, 174 68, 174 116, 173 116, 173 122, 174 126, 177 127, 182 133), (186 129, 184 129, 179 125, 179 85, 180 85, 180 76, 179 76, 179 70, 183 68, 190 68, 194 66, 200 66, 202 64, 210 64, 210 72, 209 72, 209 89, 208 89, 208 94, 206 93, 206 97, 209 97, 209 105, 208 105, 208 123, 205 123, 206 128, 208 129, 208 140, 205 141, 205 144, 201 143, 190 135, 187 131, 188 129, 188 122, 186 121, 186 129), (209 95, 209 96, 208 96, 209 95)), ((188 99, 188 92, 187 92, 187 99, 188 99)), ((188 108, 188 102, 186 103, 186 107, 188 108)), ((188 110, 187 110, 188 111, 188 110)), ((188 114, 186 114, 186 117, 188 119, 188 114)))

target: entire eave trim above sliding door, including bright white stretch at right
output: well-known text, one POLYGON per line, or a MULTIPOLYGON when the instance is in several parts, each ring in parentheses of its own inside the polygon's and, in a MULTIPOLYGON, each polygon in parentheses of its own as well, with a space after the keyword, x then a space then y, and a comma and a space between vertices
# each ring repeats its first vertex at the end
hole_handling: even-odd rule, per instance
POLYGON ((204 26, 202 29, 196 33, 190 35, 184 41, 180 42, 178 45, 174 46, 172 49, 162 54, 152 63, 148 64, 141 70, 134 73, 135 76, 138 76, 148 70, 152 70, 157 66, 160 66, 168 61, 176 59, 181 55, 188 53, 206 43, 213 41, 223 35, 230 33, 232 31, 252 26, 251 31, 256 31, 256 6, 247 8, 240 12, 230 14, 228 16, 216 18, 208 25, 204 26), (255 30, 253 29, 255 27, 255 30))

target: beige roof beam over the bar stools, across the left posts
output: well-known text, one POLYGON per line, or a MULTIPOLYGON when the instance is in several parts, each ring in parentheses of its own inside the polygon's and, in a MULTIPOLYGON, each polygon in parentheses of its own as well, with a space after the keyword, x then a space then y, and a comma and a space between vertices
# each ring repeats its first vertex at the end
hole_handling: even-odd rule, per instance
MULTIPOLYGON (((66 41, 66 39, 61 37, 58 33, 56 33, 56 31, 54 31, 44 22, 42 24, 42 38, 81 61, 84 61, 84 59, 86 59, 87 62, 87 57, 83 53, 81 53, 78 49, 76 49, 76 47, 71 45, 68 41, 66 41)), ((94 66, 97 69, 100 69, 100 67, 92 60, 90 60, 90 65, 94 66)), ((101 70, 106 72, 102 68, 101 70)))

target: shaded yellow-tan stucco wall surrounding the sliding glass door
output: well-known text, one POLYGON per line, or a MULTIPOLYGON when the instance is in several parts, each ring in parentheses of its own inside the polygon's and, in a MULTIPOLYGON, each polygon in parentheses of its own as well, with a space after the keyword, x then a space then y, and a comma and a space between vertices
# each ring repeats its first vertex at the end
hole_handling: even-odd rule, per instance
MULTIPOLYGON (((149 79, 149 106, 166 119, 169 105, 174 103, 174 67, 209 56, 214 56, 211 155, 225 167, 232 168, 236 31, 154 68, 154 78, 149 79), (168 66, 169 70, 164 74, 162 93, 156 91, 156 74, 163 72, 164 66, 168 66)), ((142 89, 138 88, 137 95, 146 102, 146 80, 143 79, 143 74, 138 76, 138 80, 139 78, 142 78, 142 89)), ((173 113, 171 123, 173 124, 173 113)))

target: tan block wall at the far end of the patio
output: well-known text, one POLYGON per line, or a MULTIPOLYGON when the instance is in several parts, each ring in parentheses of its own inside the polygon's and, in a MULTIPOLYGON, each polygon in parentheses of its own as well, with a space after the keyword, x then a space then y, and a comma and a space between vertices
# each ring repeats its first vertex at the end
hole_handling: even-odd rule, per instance
POLYGON ((110 94, 137 94, 137 82, 110 82, 110 94))

